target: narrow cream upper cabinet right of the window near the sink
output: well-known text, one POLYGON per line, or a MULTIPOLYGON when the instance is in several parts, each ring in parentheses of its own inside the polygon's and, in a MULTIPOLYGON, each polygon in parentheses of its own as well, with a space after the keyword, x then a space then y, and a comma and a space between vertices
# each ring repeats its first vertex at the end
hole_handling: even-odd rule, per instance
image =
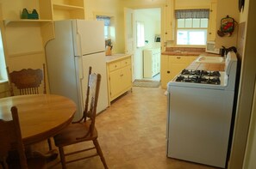
POLYGON ((212 0, 209 9, 209 40, 215 41, 217 21, 217 1, 212 0))

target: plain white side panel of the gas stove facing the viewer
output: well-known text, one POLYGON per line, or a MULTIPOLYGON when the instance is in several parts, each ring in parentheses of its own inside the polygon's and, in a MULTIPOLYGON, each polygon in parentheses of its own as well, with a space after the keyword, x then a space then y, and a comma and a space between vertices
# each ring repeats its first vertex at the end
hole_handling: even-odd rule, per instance
POLYGON ((167 156, 225 167, 234 92, 170 86, 167 156))

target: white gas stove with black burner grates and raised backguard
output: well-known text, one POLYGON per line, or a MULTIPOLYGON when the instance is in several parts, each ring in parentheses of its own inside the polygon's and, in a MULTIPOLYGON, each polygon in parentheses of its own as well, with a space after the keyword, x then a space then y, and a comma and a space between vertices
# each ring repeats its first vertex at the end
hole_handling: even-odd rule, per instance
POLYGON ((237 58, 225 71, 184 69, 168 83, 167 156, 226 167, 237 58))

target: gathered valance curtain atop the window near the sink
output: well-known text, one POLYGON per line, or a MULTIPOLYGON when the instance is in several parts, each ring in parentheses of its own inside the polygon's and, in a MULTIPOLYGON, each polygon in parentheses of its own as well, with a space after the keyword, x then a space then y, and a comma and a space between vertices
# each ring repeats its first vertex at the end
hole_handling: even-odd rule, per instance
POLYGON ((209 18, 209 9, 177 9, 175 17, 176 19, 209 18))

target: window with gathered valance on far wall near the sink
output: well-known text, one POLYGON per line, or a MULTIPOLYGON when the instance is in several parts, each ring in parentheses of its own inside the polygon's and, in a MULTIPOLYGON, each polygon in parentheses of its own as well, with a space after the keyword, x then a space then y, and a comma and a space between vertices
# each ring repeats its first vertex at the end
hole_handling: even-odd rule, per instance
POLYGON ((209 9, 175 11, 177 19, 177 45, 206 45, 209 9))

